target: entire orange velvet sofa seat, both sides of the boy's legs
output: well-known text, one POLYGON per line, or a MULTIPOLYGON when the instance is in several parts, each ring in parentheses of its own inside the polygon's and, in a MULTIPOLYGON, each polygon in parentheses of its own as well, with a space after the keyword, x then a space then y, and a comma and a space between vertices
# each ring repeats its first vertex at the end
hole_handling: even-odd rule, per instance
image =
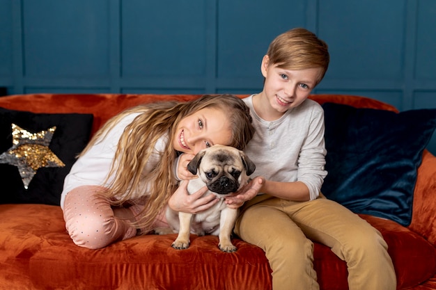
MULTIPOLYGON (((0 289, 15 289, 18 276, 21 289, 270 289, 263 250, 240 239, 233 239, 238 251, 231 254, 219 250, 217 236, 192 235, 189 249, 174 250, 176 234, 137 236, 88 250, 70 240, 60 207, 2 204, 0 214, 0 230, 8 233, 0 235, 0 250, 8 250, 0 257, 0 277, 6 280, 0 289)), ((433 277, 436 249, 428 241, 391 220, 361 217, 387 241, 398 289, 433 277)), ((315 244, 313 266, 321 289, 347 289, 346 264, 325 245, 315 244)))

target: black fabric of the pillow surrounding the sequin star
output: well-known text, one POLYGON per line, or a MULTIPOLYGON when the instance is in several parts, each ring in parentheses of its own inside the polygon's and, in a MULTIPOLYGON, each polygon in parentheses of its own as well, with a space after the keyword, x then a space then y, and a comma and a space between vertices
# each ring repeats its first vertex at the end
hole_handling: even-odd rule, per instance
POLYGON ((31 113, 0 108, 0 154, 13 146, 12 124, 31 134, 56 127, 49 150, 63 167, 42 167, 36 170, 28 188, 24 188, 17 166, 0 163, 0 203, 38 203, 59 205, 63 179, 70 172, 76 156, 88 143, 93 123, 92 114, 31 113))

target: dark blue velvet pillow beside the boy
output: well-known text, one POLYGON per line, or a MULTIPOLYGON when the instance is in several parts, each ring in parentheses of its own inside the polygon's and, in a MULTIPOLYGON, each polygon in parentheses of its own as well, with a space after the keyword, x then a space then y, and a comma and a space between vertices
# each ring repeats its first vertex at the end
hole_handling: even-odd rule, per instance
POLYGON ((328 171, 322 193, 357 214, 410 225, 416 170, 436 127, 436 109, 322 107, 328 171))

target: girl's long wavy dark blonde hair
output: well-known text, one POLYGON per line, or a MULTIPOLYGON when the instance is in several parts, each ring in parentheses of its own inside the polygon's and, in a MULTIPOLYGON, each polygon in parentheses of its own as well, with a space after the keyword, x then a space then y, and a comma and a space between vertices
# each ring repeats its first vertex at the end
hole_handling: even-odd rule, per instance
MULTIPOLYGON (((114 176, 110 182, 108 198, 112 204, 121 205, 137 198, 135 193, 149 193, 146 207, 137 217, 135 225, 142 232, 149 232, 153 222, 164 209, 171 194, 176 189, 176 177, 173 172, 177 152, 173 148, 173 138, 180 120, 203 108, 217 108, 224 112, 230 123, 232 142, 230 145, 243 150, 254 135, 249 108, 235 95, 204 95, 190 102, 156 102, 127 109, 111 118, 93 136, 84 152, 104 138, 108 131, 121 119, 131 113, 139 113, 125 127, 120 136, 114 161, 108 175, 114 176), (152 154, 157 140, 168 134, 166 150, 159 156, 159 163, 144 176, 143 168, 152 154), (148 184, 148 185, 147 185, 148 184)), ((81 154, 84 154, 82 152, 81 154)), ((107 181, 108 181, 107 180, 107 181)))

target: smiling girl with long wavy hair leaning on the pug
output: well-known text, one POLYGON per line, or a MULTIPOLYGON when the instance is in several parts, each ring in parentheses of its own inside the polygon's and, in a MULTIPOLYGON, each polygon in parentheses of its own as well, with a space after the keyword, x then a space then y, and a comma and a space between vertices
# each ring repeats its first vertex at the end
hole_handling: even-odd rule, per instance
MULTIPOLYGON (((243 150, 253 134, 248 107, 233 95, 145 104, 114 116, 65 177, 61 207, 71 239, 98 249, 139 229, 146 234, 164 226, 164 208, 176 188, 177 155, 215 144, 243 150)), ((215 200, 200 204, 194 211, 215 200)))

